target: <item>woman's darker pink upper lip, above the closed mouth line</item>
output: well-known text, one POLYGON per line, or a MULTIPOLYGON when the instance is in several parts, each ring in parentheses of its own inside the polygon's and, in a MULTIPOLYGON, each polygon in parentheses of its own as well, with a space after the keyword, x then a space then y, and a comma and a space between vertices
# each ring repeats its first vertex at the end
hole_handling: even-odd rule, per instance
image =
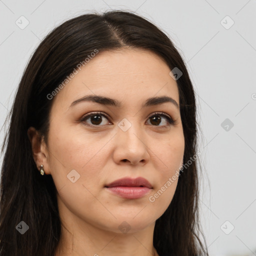
POLYGON ((113 182, 106 185, 106 187, 113 187, 113 186, 144 186, 144 187, 152 188, 152 185, 150 184, 150 182, 143 177, 137 177, 137 178, 124 177, 124 178, 116 179, 113 182))

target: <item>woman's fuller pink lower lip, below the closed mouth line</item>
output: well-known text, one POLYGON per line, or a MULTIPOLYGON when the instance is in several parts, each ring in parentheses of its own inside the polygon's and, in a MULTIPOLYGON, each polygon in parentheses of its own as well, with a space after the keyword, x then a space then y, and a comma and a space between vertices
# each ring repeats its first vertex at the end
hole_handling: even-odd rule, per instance
POLYGON ((113 186, 106 189, 127 199, 140 198, 150 191, 150 188, 144 186, 113 186))

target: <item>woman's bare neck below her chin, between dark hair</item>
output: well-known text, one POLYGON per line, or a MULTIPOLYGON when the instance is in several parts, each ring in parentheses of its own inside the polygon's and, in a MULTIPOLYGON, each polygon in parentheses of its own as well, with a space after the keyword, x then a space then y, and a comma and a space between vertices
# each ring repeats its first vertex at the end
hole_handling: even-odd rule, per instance
POLYGON ((61 226, 55 256, 159 256, 153 247, 154 223, 133 233, 116 233, 87 223, 61 226))

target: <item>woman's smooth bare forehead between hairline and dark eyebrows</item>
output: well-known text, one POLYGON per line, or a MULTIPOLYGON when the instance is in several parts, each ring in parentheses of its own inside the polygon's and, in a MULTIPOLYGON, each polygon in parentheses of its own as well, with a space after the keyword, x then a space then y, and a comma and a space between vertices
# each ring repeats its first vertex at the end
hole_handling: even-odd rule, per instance
POLYGON ((164 94, 178 102, 177 84, 169 75, 170 68, 149 50, 98 52, 77 71, 54 96, 54 104, 67 109, 74 100, 87 94, 126 99, 127 103, 164 94))

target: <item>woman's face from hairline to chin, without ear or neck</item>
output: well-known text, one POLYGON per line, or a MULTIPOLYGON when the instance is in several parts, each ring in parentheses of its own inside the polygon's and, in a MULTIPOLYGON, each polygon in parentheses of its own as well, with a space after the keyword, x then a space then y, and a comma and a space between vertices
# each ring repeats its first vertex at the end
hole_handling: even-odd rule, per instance
POLYGON ((99 52, 51 99, 42 163, 58 191, 62 217, 120 233, 122 227, 143 229, 166 210, 184 153, 180 112, 174 101, 146 103, 167 96, 179 104, 169 72, 150 51, 99 52), (78 100, 88 95, 118 104, 78 100), (86 114, 93 115, 83 119, 86 114), (174 124, 168 124, 168 116, 174 124), (143 177, 151 187, 106 187, 123 177, 143 177))

